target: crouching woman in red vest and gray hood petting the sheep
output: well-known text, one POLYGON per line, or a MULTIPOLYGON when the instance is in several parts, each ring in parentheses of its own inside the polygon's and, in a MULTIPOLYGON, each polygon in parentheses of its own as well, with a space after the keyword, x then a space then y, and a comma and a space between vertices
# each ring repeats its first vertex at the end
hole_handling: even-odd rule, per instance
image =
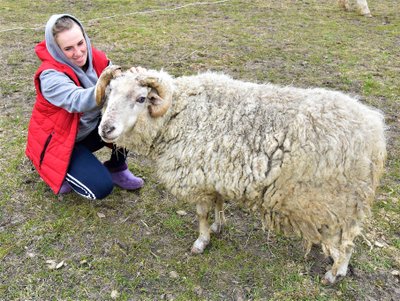
POLYGON ((35 47, 41 65, 35 73, 36 102, 28 129, 26 155, 56 194, 74 190, 89 199, 102 199, 117 185, 135 190, 143 180, 126 164, 126 152, 107 145, 98 135, 101 108, 95 85, 111 64, 92 47, 82 24, 67 14, 53 15, 45 40, 35 47), (104 164, 93 152, 108 146, 104 164))

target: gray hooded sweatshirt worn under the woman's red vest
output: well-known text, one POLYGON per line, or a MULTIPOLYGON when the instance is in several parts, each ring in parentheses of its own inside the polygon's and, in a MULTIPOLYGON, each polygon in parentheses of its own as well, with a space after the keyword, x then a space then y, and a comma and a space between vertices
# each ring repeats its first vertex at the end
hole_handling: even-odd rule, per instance
POLYGON ((78 76, 82 86, 79 87, 75 85, 66 74, 49 69, 40 74, 40 88, 42 94, 49 102, 68 112, 83 113, 76 138, 76 141, 81 141, 96 128, 101 117, 101 108, 96 105, 95 100, 95 86, 98 77, 92 64, 92 46, 90 40, 80 21, 67 14, 53 15, 50 17, 46 24, 45 39, 47 50, 51 56, 58 62, 71 67, 78 76), (88 53, 88 68, 86 71, 69 62, 53 37, 53 25, 63 16, 70 17, 82 28, 88 53))

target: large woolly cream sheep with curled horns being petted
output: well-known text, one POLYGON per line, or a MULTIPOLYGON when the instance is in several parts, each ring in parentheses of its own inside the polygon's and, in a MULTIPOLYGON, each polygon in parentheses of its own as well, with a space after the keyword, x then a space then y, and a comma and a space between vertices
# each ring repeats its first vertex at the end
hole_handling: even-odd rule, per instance
POLYGON ((384 170, 382 113, 322 88, 137 70, 98 84, 99 134, 149 156, 165 187, 196 205, 193 254, 221 231, 230 200, 260 212, 264 229, 300 235, 306 255, 321 245, 334 260, 323 282, 346 275, 384 170))

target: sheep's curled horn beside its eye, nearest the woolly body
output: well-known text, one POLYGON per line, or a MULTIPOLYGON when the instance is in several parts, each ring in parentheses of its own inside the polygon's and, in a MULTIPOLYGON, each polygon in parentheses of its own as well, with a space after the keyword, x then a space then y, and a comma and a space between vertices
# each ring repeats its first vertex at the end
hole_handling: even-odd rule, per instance
POLYGON ((157 77, 146 77, 140 80, 143 86, 149 86, 157 91, 160 101, 156 101, 149 106, 150 116, 153 118, 164 115, 171 106, 172 93, 170 87, 164 85, 157 77))

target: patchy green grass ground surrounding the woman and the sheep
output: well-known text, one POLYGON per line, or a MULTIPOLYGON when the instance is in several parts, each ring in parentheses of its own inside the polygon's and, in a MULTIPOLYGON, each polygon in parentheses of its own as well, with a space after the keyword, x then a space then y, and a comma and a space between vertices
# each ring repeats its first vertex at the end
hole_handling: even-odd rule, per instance
MULTIPOLYGON (((400 297, 400 15, 397 0, 370 0, 373 18, 336 1, 11 1, 0 6, 0 300, 397 300, 400 297), (235 78, 358 95, 382 110, 388 161, 352 273, 320 278, 320 250, 304 259, 295 238, 267 235, 234 204, 201 256, 195 208, 177 201, 146 158, 130 168, 138 192, 104 201, 59 199, 25 158, 35 100, 33 52, 53 13, 84 22, 92 43, 123 67, 174 75, 208 69, 235 78), (179 215, 184 210, 187 215, 179 215), (375 243, 379 242, 379 246, 375 243), (49 269, 47 261, 64 262, 49 269)), ((101 158, 108 156, 100 152, 101 158)))

